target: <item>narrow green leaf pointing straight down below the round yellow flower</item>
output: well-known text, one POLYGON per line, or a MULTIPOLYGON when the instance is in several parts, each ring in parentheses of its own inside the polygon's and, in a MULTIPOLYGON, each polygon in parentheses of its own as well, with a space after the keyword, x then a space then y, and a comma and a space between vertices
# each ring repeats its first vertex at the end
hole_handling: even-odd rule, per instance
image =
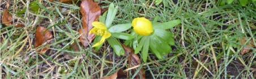
POLYGON ((144 37, 146 38, 145 43, 143 45, 143 49, 142 49, 142 60, 143 62, 147 62, 147 57, 148 57, 148 48, 150 45, 150 39, 148 38, 148 36, 144 37))

